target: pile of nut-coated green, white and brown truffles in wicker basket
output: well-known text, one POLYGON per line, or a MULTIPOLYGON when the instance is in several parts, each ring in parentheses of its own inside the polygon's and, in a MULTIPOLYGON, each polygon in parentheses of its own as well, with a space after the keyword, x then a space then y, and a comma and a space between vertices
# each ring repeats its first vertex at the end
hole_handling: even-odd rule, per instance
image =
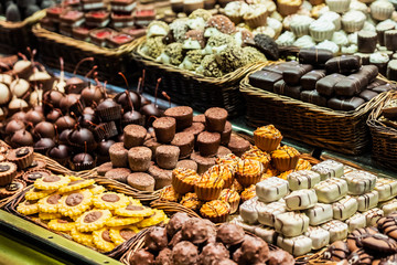
POLYGON ((273 40, 236 29, 225 15, 198 9, 171 24, 149 24, 141 53, 164 64, 207 77, 221 77, 247 64, 278 60, 273 40))

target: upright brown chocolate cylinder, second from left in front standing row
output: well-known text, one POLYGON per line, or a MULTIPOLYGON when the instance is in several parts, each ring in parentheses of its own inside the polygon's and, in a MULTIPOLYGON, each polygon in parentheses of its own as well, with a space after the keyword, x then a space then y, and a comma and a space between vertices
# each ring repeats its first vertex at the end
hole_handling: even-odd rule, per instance
POLYGON ((148 147, 132 147, 128 151, 128 163, 132 171, 148 171, 152 158, 152 151, 148 147))

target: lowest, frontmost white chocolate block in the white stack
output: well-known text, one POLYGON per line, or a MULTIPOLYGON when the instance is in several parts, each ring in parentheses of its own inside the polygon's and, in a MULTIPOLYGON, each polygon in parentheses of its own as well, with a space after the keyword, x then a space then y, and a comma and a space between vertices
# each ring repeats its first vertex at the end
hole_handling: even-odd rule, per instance
POLYGON ((277 245, 294 256, 301 256, 309 253, 312 248, 312 241, 308 236, 299 235, 296 237, 277 237, 277 245))

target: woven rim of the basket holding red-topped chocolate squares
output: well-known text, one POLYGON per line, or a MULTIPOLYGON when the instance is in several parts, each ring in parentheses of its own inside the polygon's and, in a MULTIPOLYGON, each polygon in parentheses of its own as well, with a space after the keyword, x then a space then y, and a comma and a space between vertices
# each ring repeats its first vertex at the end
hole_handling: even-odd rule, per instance
POLYGON ((129 42, 129 43, 124 44, 116 49, 108 49, 108 47, 101 47, 101 46, 95 45, 95 44, 86 42, 86 41, 76 40, 71 36, 62 35, 60 33, 49 31, 49 30, 42 28, 40 23, 37 23, 36 25, 34 25, 32 28, 32 32, 36 38, 44 38, 44 39, 57 42, 60 44, 74 46, 76 49, 81 49, 86 52, 92 52, 94 54, 105 55, 105 56, 127 55, 132 52, 135 46, 138 44, 138 40, 139 40, 139 39, 136 39, 132 42, 129 42))

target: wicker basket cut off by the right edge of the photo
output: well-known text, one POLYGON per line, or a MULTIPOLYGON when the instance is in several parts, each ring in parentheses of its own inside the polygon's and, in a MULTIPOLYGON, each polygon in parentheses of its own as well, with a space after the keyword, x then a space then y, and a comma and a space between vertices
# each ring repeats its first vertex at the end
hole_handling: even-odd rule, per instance
POLYGON ((379 120, 382 108, 393 97, 397 97, 397 92, 387 94, 386 99, 371 113, 367 125, 373 137, 372 156, 374 160, 380 166, 397 170, 397 129, 379 120))

